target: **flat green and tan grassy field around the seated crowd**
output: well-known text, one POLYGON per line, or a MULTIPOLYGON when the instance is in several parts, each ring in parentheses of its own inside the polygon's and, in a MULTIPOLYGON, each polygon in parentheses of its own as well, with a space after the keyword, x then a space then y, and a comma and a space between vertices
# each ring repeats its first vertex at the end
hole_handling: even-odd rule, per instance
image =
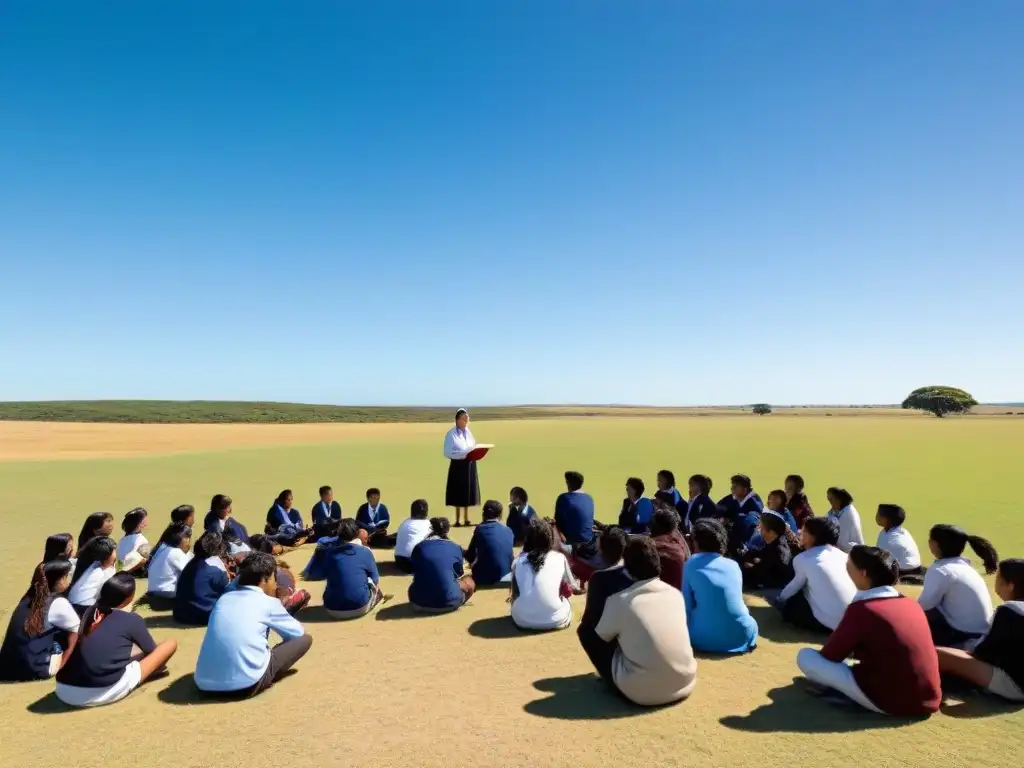
MULTIPOLYGON (((293 488, 306 510, 324 482, 349 512, 370 484, 383 488, 397 517, 421 496, 438 512, 442 431, 431 424, 0 424, 0 514, 8 530, 0 612, 24 591, 43 538, 77 535, 97 509, 120 519, 130 507, 146 507, 151 539, 176 504, 205 509, 213 494, 227 493, 236 514, 255 529, 283 487, 293 488)), ((711 474, 723 494, 736 471, 750 474, 762 494, 800 472, 821 511, 827 485, 849 488, 869 538, 873 507, 896 501, 907 508, 923 547, 929 525, 955 521, 990 538, 1004 556, 1024 554, 1010 481, 1024 465, 1024 421, 1016 419, 561 418, 476 422, 474 433, 498 444, 480 468, 484 496, 504 502, 511 485, 522 484, 542 512, 551 509, 568 468, 585 473, 606 518, 617 510, 626 477, 652 483, 662 467, 681 478, 711 474)), ((310 549, 286 559, 300 567, 310 549)), ((794 681, 794 656, 807 639, 782 627, 757 598, 750 603, 763 640, 755 653, 701 659, 690 700, 641 712, 604 693, 574 632, 516 633, 501 592, 478 594, 454 615, 413 617, 407 579, 385 570, 384 586, 396 597, 375 617, 337 624, 310 608, 312 651, 297 674, 254 700, 197 700, 189 674, 202 632, 175 628, 165 614, 148 621, 158 639, 180 642, 171 676, 127 702, 69 713, 55 702, 52 683, 2 686, 0 768, 154 760, 905 768, 1018 765, 1024 749, 1024 714, 978 696, 919 723, 821 706, 794 681)), ((310 591, 316 605, 322 585, 310 591)), ((583 600, 573 607, 579 616, 583 600)))

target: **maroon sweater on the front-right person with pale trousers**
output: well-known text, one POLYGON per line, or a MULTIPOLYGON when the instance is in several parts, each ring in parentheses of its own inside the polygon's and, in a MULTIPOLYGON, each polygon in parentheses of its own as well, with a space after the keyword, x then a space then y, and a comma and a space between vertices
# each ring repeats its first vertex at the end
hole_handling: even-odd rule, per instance
POLYGON ((942 702, 939 657, 916 600, 901 596, 850 603, 821 655, 829 662, 856 658, 857 685, 890 715, 931 715, 942 702))

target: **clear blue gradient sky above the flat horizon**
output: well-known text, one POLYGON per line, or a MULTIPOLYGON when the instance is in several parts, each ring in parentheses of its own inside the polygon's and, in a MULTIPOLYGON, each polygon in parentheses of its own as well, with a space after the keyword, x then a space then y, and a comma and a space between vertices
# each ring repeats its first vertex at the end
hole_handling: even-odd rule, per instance
POLYGON ((1024 4, 0 11, 0 399, 1024 396, 1024 4))

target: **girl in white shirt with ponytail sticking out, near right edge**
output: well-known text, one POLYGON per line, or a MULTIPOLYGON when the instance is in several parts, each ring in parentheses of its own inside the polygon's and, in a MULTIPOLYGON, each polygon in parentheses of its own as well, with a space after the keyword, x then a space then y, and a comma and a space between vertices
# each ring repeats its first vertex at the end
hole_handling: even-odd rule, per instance
POLYGON ((988 587, 964 550, 978 555, 986 573, 994 573, 999 556, 987 539, 969 536, 955 525, 933 525, 928 548, 935 562, 925 572, 925 588, 918 598, 932 628, 936 645, 971 650, 988 633, 992 623, 992 598, 988 587))

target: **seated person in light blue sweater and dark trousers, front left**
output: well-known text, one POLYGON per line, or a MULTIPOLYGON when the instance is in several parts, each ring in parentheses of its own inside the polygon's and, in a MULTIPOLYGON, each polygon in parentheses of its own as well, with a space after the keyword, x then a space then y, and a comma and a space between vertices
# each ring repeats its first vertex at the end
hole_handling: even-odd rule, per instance
POLYGON ((210 613, 196 663, 196 687, 217 695, 254 696, 269 688, 313 643, 276 597, 278 563, 251 552, 239 565, 238 589, 225 592, 210 613), (268 646, 270 630, 283 642, 268 646))

